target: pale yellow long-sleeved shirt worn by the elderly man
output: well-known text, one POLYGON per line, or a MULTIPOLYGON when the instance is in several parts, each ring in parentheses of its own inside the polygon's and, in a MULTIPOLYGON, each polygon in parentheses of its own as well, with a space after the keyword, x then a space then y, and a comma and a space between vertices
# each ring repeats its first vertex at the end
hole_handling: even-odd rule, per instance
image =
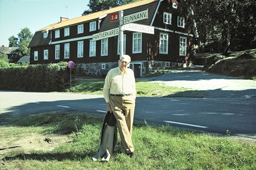
POLYGON ((132 94, 136 98, 136 86, 133 70, 126 68, 124 74, 119 67, 108 71, 103 88, 104 99, 110 101, 110 94, 132 94))

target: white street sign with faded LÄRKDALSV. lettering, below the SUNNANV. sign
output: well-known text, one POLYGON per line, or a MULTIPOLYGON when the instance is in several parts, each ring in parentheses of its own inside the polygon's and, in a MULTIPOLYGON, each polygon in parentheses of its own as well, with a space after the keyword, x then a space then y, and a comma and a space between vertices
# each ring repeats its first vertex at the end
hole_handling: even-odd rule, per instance
POLYGON ((123 25, 123 29, 127 31, 143 32, 147 34, 154 34, 154 26, 142 25, 137 23, 127 23, 123 25))

